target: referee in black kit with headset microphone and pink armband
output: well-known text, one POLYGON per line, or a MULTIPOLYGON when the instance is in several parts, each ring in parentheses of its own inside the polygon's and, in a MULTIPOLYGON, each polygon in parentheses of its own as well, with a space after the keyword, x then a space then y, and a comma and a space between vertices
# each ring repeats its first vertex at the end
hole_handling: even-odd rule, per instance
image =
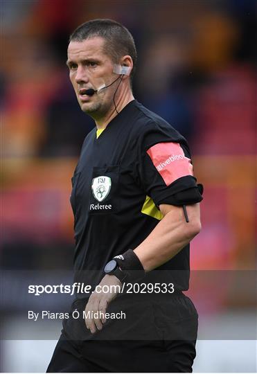
POLYGON ((67 65, 96 122, 71 193, 75 281, 95 292, 78 292, 80 318, 65 321, 48 372, 192 371, 197 312, 182 291, 202 191, 186 139, 134 100, 136 48, 121 24, 79 26, 67 65), (107 319, 121 311, 125 320, 107 319))

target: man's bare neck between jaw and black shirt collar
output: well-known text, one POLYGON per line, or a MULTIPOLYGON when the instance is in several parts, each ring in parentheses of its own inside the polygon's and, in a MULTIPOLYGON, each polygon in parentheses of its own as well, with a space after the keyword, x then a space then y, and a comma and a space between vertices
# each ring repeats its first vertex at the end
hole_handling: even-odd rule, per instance
POLYGON ((116 117, 117 114, 120 113, 122 109, 132 100, 134 100, 134 96, 131 89, 124 90, 123 93, 115 99, 116 109, 114 105, 112 105, 109 112, 107 112, 107 114, 103 116, 103 118, 99 118, 97 120, 95 119, 97 130, 105 129, 108 123, 110 123, 114 119, 114 117, 116 117))

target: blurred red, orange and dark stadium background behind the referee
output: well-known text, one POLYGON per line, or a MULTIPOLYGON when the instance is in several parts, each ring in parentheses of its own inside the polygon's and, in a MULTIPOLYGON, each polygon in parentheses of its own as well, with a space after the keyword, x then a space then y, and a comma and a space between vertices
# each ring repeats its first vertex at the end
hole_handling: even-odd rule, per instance
MULTIPOLYGON (((213 339, 211 332, 200 335, 194 369, 256 371, 256 4, 1 0, 3 330, 19 324, 15 309, 33 310, 22 287, 26 274, 35 281, 35 274, 72 268, 71 177, 94 121, 73 94, 67 43, 79 24, 111 18, 136 42, 134 96, 186 136, 195 176, 204 184, 188 294, 200 331, 212 326, 214 332, 227 321, 231 330, 213 339), (246 325, 253 334, 231 338, 246 325)), ((59 333, 57 324, 55 339, 59 333)), ((35 339, 3 340, 1 370, 45 371, 55 340, 35 339)))

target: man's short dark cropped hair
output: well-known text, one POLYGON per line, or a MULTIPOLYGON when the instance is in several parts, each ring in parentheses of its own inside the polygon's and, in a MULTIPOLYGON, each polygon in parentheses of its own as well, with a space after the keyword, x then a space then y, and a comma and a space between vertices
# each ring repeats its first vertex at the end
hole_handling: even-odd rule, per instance
POLYGON ((83 42, 92 37, 105 39, 104 51, 116 64, 121 57, 130 55, 133 60, 133 69, 130 73, 130 82, 136 69, 136 46, 134 39, 127 28, 112 19, 92 19, 78 26, 71 33, 69 42, 83 42))

